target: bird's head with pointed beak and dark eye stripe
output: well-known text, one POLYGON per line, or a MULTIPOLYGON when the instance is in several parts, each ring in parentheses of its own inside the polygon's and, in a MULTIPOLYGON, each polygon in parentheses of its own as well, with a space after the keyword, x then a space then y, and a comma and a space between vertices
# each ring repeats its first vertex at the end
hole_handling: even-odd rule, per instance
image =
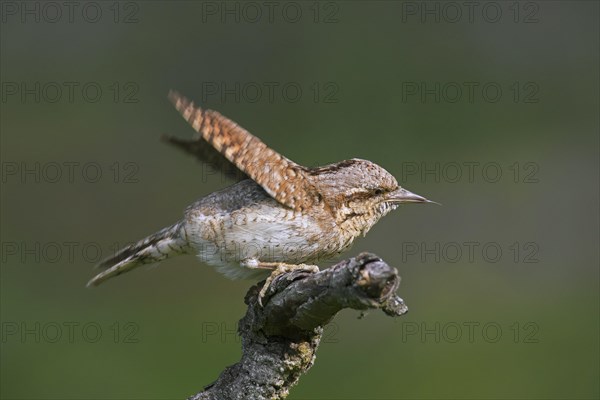
POLYGON ((365 234, 381 217, 403 203, 432 203, 398 185, 396 178, 371 161, 353 158, 313 168, 319 193, 335 210, 338 223, 365 234))

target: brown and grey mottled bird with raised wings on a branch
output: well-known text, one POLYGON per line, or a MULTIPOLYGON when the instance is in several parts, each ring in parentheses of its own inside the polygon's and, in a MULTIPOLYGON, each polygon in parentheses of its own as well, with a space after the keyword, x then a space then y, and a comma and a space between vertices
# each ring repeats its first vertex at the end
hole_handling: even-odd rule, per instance
POLYGON ((163 140, 237 182, 188 206, 180 221, 101 261, 97 267, 103 271, 88 286, 183 254, 195 254, 230 279, 297 268, 316 272, 316 264, 347 250, 399 205, 435 203, 404 189, 371 161, 305 167, 217 111, 176 91, 168 98, 196 133, 192 140, 163 140))

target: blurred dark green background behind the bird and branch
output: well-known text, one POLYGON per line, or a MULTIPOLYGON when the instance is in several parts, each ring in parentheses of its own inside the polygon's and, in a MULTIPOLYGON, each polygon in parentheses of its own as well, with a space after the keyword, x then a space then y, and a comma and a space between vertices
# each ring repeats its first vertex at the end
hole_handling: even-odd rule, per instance
POLYGON ((54 4, 2 2, 3 399, 181 399, 239 358, 253 282, 190 256, 85 288, 229 184, 160 143, 192 134, 169 89, 443 204, 344 254, 410 313, 341 313, 290 399, 600 396, 598 2, 54 4))

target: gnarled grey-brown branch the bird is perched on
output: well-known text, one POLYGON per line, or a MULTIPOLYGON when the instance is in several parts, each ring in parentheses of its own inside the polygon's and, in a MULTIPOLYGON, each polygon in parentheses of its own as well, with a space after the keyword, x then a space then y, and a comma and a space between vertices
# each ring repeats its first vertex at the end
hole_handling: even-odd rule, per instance
POLYGON ((400 277, 374 254, 361 253, 317 274, 296 270, 278 276, 257 302, 263 282, 246 294, 240 320, 242 359, 189 400, 284 399, 316 357, 323 326, 343 308, 408 311, 396 295, 400 277))

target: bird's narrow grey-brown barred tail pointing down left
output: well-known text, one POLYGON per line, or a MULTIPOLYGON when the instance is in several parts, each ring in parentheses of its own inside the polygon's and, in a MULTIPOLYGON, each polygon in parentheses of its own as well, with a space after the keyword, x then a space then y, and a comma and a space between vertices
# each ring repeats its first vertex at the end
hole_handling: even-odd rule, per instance
POLYGON ((188 242, 182 234, 183 222, 162 229, 139 242, 118 251, 112 257, 100 262, 97 268, 107 268, 93 277, 87 284, 98 286, 105 280, 144 264, 153 264, 173 255, 185 253, 188 242))

